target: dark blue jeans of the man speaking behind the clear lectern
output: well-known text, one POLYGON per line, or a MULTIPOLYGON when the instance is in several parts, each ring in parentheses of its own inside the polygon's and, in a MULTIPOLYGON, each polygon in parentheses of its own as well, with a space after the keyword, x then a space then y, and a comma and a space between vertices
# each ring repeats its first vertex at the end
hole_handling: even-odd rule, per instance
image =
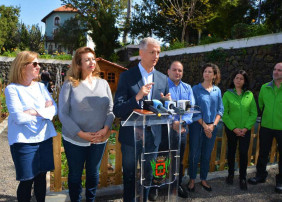
MULTIPOLYGON (((146 148, 149 149, 147 152, 157 152, 158 146, 154 145, 154 139, 152 133, 148 132, 146 134, 146 148)), ((123 201, 124 202, 133 202, 135 201, 135 168, 137 166, 137 159, 140 159, 142 152, 142 142, 139 141, 136 143, 136 157, 135 157, 135 148, 131 145, 122 144, 122 168, 123 168, 123 201)), ((156 158, 157 154, 154 154, 152 158, 156 158)), ((150 161, 146 161, 145 170, 150 170, 151 165, 150 161)), ((146 172, 146 171, 145 171, 146 172)), ((152 179, 153 175, 151 172, 147 172, 147 178, 152 179)), ((143 201, 146 201, 149 195, 149 188, 144 189, 144 198, 143 201)))

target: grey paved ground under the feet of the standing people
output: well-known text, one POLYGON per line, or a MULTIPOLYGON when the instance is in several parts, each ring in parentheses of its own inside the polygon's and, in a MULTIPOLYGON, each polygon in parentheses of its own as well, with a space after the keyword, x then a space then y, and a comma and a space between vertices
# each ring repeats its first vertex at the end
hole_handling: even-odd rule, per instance
MULTIPOLYGON (((18 182, 15 180, 14 164, 10 154, 10 148, 7 141, 6 122, 0 124, 0 201, 16 201, 16 190, 18 182)), ((205 191, 198 183, 196 184, 196 191, 190 194, 188 199, 181 199, 179 201, 195 201, 195 202, 229 202, 229 201, 250 201, 250 202, 282 202, 282 194, 274 192, 275 175, 278 171, 277 165, 268 167, 269 176, 266 183, 259 185, 248 185, 248 191, 241 191, 239 189, 239 181, 234 180, 234 185, 226 185, 225 177, 226 171, 210 173, 209 184, 213 191, 205 191)), ((248 169, 248 177, 254 176, 255 168, 248 169)), ((187 183, 187 178, 184 183, 187 183)), ((99 189, 97 192, 98 202, 121 202, 122 186, 114 186, 110 188, 99 189)), ((54 193, 49 192, 46 197, 46 202, 63 202, 69 201, 67 191, 54 193)), ((162 197, 159 201, 164 201, 162 197)), ((34 201, 34 200, 33 200, 34 201)))

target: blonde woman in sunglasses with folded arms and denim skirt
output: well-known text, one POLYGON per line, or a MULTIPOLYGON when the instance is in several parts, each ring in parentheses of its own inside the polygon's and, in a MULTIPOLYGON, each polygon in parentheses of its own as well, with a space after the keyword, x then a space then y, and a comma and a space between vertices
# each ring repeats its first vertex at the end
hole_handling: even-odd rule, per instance
POLYGON ((54 169, 52 124, 57 107, 39 75, 38 54, 20 52, 14 59, 5 89, 9 110, 8 140, 16 168, 18 201, 30 201, 31 187, 37 201, 45 201, 46 172, 54 169))

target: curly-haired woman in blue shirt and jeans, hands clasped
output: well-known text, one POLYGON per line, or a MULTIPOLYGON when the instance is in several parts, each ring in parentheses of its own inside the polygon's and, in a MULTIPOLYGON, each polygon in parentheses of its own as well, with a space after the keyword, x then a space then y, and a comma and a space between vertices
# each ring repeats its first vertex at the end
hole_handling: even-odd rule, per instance
POLYGON ((215 86, 220 82, 219 68, 215 64, 207 63, 203 66, 202 73, 203 82, 193 87, 195 104, 200 107, 201 113, 194 115, 194 122, 190 125, 189 191, 195 190, 195 179, 200 157, 201 185, 207 191, 212 190, 206 179, 216 138, 216 126, 223 115, 221 91, 215 86))

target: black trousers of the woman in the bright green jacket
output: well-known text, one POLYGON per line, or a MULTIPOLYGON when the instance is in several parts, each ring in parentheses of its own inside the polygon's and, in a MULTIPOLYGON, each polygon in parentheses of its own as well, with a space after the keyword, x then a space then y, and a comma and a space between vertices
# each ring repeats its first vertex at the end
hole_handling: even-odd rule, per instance
POLYGON ((240 179, 246 179, 251 131, 248 130, 244 137, 237 136, 233 131, 229 130, 227 127, 225 127, 225 131, 228 142, 228 174, 234 176, 235 154, 237 149, 237 142, 239 142, 240 179))

